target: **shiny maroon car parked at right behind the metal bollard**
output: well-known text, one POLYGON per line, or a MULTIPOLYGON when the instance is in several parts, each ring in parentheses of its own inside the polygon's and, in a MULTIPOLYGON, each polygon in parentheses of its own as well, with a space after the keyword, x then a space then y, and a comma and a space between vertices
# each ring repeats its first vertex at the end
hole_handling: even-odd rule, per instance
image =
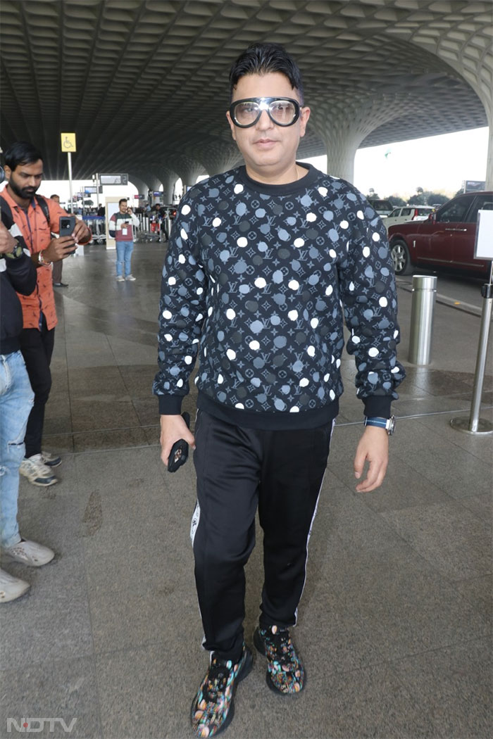
POLYGON ((491 262, 474 258, 479 210, 493 210, 493 192, 466 192, 446 202, 426 221, 390 226, 395 274, 432 266, 488 273, 491 262))

